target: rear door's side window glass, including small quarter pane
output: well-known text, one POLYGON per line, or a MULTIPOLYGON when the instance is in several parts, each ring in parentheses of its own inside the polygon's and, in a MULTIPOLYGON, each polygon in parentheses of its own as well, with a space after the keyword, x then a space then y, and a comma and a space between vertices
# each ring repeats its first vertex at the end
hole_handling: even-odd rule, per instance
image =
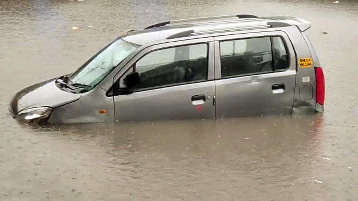
POLYGON ((222 77, 289 67, 285 44, 279 36, 222 41, 220 55, 222 77))

